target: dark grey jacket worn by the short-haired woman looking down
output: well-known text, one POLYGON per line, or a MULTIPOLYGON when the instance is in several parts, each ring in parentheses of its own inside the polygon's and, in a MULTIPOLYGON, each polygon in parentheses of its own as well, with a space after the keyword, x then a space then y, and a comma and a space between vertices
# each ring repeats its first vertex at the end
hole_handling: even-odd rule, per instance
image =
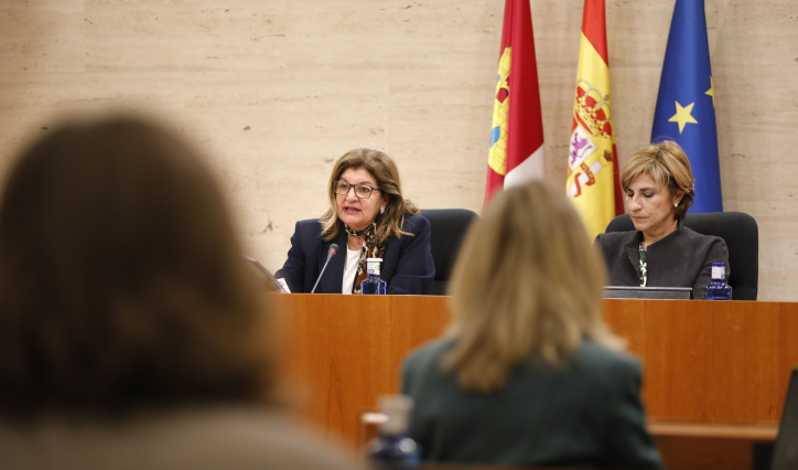
MULTIPOLYGON (((640 285, 639 245, 643 233, 637 231, 598 234, 595 243, 604 253, 610 286, 640 285)), ((702 235, 681 224, 646 249, 648 280, 651 287, 692 287, 693 299, 704 298, 704 288, 712 280, 712 263, 725 263, 726 279, 731 273, 729 248, 723 238, 702 235)))

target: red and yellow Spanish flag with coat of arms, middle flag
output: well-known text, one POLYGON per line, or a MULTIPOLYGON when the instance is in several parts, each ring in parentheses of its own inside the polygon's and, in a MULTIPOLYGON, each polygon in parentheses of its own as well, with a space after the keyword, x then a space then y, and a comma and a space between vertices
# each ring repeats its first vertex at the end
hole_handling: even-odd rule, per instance
POLYGON ((585 0, 565 188, 591 237, 624 212, 608 64, 604 0, 585 0))

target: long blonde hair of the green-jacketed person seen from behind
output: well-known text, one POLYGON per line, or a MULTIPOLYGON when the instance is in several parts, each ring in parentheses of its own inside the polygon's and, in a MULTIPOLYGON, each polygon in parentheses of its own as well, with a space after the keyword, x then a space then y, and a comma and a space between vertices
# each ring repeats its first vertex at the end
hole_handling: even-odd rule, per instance
POLYGON ((565 365, 583 339, 622 342, 601 318, 605 268, 571 202, 542 182, 494 197, 450 285, 455 339, 443 366, 465 389, 506 385, 525 360, 565 365))

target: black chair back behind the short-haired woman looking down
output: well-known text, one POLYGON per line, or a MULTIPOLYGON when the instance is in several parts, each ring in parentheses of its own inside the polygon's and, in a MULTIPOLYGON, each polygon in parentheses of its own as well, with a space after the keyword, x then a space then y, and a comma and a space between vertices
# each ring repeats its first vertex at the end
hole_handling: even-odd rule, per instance
MULTIPOLYGON (((684 226, 723 238, 729 248, 729 285, 733 300, 756 300, 759 282, 759 228, 756 221, 743 212, 708 212, 687 214, 684 226)), ((634 231, 628 214, 610 221, 605 232, 634 231)))

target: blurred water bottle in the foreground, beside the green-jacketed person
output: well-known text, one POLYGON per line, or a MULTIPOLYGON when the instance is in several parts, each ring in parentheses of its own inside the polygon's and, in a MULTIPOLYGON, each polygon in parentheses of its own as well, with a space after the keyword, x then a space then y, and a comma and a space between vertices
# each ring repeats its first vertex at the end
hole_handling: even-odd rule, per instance
POLYGON ((373 439, 366 449, 370 468, 374 470, 417 469, 421 464, 419 446, 407 436, 408 420, 413 400, 406 395, 389 395, 380 398, 379 407, 386 415, 380 424, 379 437, 373 439))

